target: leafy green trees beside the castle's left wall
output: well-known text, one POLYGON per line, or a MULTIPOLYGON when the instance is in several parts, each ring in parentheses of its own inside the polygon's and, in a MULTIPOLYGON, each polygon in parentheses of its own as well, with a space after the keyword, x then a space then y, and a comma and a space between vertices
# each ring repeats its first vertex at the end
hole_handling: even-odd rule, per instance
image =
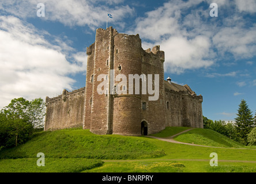
POLYGON ((45 104, 37 98, 29 102, 14 98, 0 112, 0 148, 22 144, 31 138, 36 128, 43 127, 45 104))

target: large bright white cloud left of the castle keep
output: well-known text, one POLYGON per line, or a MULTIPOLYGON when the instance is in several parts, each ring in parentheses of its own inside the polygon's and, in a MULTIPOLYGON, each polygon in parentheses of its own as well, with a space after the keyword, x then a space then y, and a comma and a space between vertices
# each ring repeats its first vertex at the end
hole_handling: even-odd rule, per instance
POLYGON ((0 108, 13 98, 44 98, 72 89, 75 81, 67 75, 86 70, 82 53, 66 55, 73 48, 59 38, 59 45, 49 43, 43 33, 16 17, 0 17, 0 40, 0 108))

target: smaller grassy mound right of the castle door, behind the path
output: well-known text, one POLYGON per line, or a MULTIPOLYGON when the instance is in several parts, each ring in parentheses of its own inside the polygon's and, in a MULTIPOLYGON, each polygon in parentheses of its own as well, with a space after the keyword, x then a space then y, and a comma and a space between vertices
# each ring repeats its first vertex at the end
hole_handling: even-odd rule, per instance
POLYGON ((212 147, 240 148, 242 144, 229 139, 227 136, 210 129, 195 128, 189 132, 182 133, 175 137, 175 140, 183 143, 192 143, 199 145, 208 145, 212 147))

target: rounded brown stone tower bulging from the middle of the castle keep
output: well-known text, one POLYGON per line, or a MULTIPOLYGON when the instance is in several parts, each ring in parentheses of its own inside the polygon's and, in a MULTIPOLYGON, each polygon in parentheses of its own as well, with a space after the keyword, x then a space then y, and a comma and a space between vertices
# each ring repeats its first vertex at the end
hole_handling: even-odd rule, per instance
MULTIPOLYGON (((133 92, 129 86, 129 74, 141 75, 141 39, 137 35, 116 34, 114 37, 114 71, 115 78, 125 75, 127 85, 121 86, 125 89, 124 94, 114 95, 113 134, 141 135, 141 93, 135 93, 135 81, 133 81, 133 92)), ((115 86, 118 85, 115 82, 115 86)), ((141 88, 141 87, 140 87, 141 88)), ((119 89, 118 89, 119 90, 119 89)), ((140 89, 141 91, 141 89, 140 89)))

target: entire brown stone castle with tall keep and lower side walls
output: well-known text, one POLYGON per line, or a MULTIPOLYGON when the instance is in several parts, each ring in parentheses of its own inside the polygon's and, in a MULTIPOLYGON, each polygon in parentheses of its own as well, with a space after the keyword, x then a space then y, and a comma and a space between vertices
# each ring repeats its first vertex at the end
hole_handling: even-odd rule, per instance
POLYGON ((164 52, 159 45, 144 50, 138 34, 121 34, 109 27, 96 30, 95 43, 87 47, 86 54, 86 86, 72 92, 63 90, 58 97, 46 97, 45 131, 82 126, 101 135, 140 136, 165 127, 203 128, 202 96, 188 85, 175 84, 171 78, 164 80, 164 52), (135 76, 139 76, 137 89, 130 81, 116 81, 119 74, 127 79, 133 74, 134 82, 135 76), (144 76, 150 74, 155 76, 152 89, 155 87, 155 93, 159 89, 157 100, 150 100, 152 93, 142 93, 144 76), (102 90, 105 80, 107 89, 102 90), (123 91, 140 93, 116 93, 118 83, 122 83, 123 91))

